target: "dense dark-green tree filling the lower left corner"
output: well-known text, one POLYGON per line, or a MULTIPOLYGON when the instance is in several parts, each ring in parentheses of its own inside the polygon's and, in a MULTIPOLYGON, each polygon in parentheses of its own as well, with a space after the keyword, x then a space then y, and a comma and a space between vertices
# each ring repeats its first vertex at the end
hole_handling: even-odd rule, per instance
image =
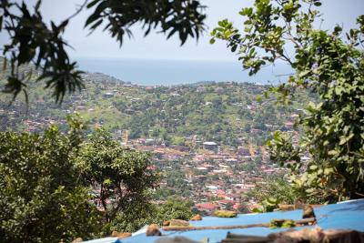
POLYGON ((59 242, 102 232, 101 216, 75 167, 80 128, 68 135, 49 127, 43 136, 0 133, 2 242, 59 242))

